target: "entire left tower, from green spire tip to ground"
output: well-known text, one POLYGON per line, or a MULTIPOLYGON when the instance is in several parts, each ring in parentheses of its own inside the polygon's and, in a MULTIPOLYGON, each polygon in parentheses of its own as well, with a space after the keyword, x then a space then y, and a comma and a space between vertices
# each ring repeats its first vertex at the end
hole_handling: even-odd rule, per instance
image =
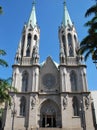
POLYGON ((17 93, 11 92, 12 106, 6 110, 5 128, 31 130, 37 126, 37 100, 39 91, 39 40, 40 29, 36 20, 35 1, 27 24, 24 25, 15 56, 12 86, 17 93), (34 119, 32 121, 32 118, 34 119), (12 126, 11 126, 12 124, 12 126))

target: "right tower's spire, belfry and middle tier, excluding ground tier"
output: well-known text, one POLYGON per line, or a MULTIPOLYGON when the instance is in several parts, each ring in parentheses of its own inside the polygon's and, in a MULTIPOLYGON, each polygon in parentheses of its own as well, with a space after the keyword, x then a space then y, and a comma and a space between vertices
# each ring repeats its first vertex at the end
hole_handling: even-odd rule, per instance
POLYGON ((86 65, 83 57, 77 53, 79 49, 78 36, 65 1, 63 3, 62 24, 59 27, 58 34, 60 42, 60 86, 62 91, 87 91, 86 65), (81 81, 79 86, 77 85, 78 77, 81 81), (69 79, 74 81, 75 85, 73 87, 69 79))

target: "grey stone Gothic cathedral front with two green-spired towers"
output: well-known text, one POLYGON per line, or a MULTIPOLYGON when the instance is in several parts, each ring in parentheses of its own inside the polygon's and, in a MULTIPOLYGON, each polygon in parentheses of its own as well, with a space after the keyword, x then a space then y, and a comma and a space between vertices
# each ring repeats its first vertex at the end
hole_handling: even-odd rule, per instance
POLYGON ((15 56, 12 86, 17 92, 10 92, 4 130, 94 130, 86 65, 78 54, 78 37, 65 2, 58 36, 59 63, 49 56, 40 64, 40 28, 33 3, 15 56))

